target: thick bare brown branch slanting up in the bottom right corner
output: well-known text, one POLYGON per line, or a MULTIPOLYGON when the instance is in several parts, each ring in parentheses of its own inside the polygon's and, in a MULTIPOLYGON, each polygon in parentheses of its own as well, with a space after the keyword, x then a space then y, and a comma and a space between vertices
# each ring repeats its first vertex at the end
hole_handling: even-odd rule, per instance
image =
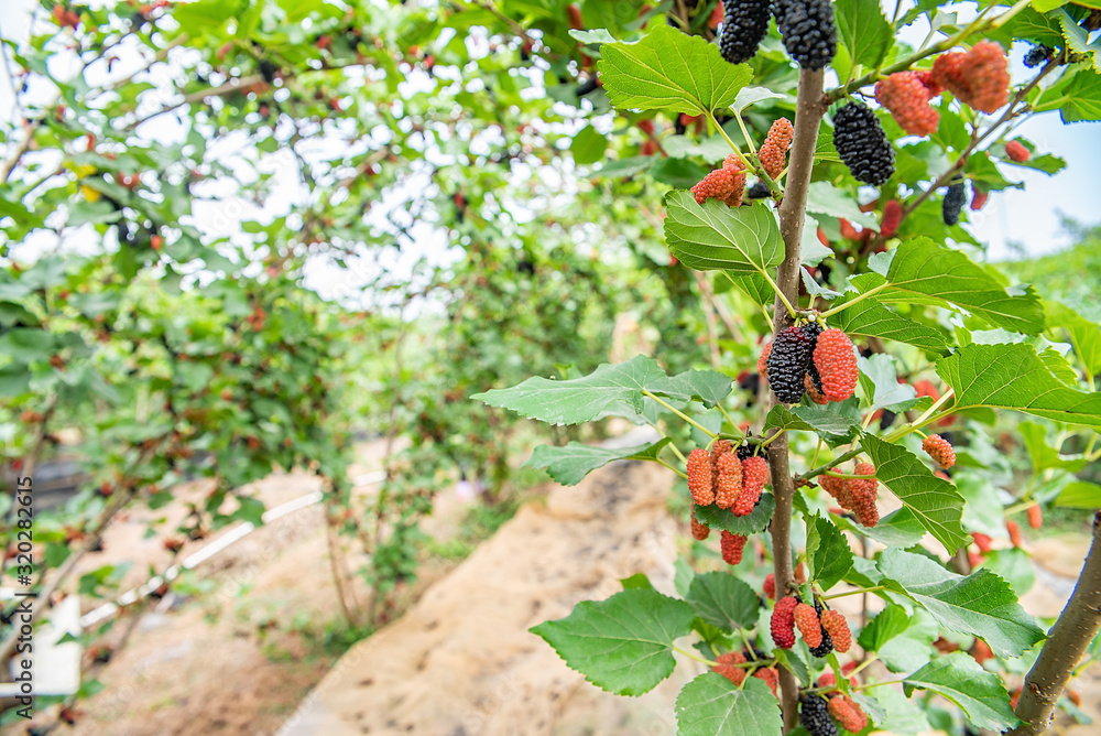
POLYGON ((1101 511, 1093 516, 1093 542, 1075 592, 1051 627, 1039 658, 1025 678, 1017 702, 1021 725, 1009 736, 1034 736, 1047 730, 1056 701, 1090 641, 1101 628, 1101 511))

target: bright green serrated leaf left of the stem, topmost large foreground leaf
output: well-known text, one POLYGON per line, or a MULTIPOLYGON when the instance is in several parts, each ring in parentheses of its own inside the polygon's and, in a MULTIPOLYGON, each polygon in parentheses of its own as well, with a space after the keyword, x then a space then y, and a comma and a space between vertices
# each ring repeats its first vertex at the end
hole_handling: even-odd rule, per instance
POLYGON ((600 79, 619 109, 700 115, 732 105, 753 77, 745 64, 728 64, 717 45, 664 23, 635 43, 606 43, 600 53, 600 79))

